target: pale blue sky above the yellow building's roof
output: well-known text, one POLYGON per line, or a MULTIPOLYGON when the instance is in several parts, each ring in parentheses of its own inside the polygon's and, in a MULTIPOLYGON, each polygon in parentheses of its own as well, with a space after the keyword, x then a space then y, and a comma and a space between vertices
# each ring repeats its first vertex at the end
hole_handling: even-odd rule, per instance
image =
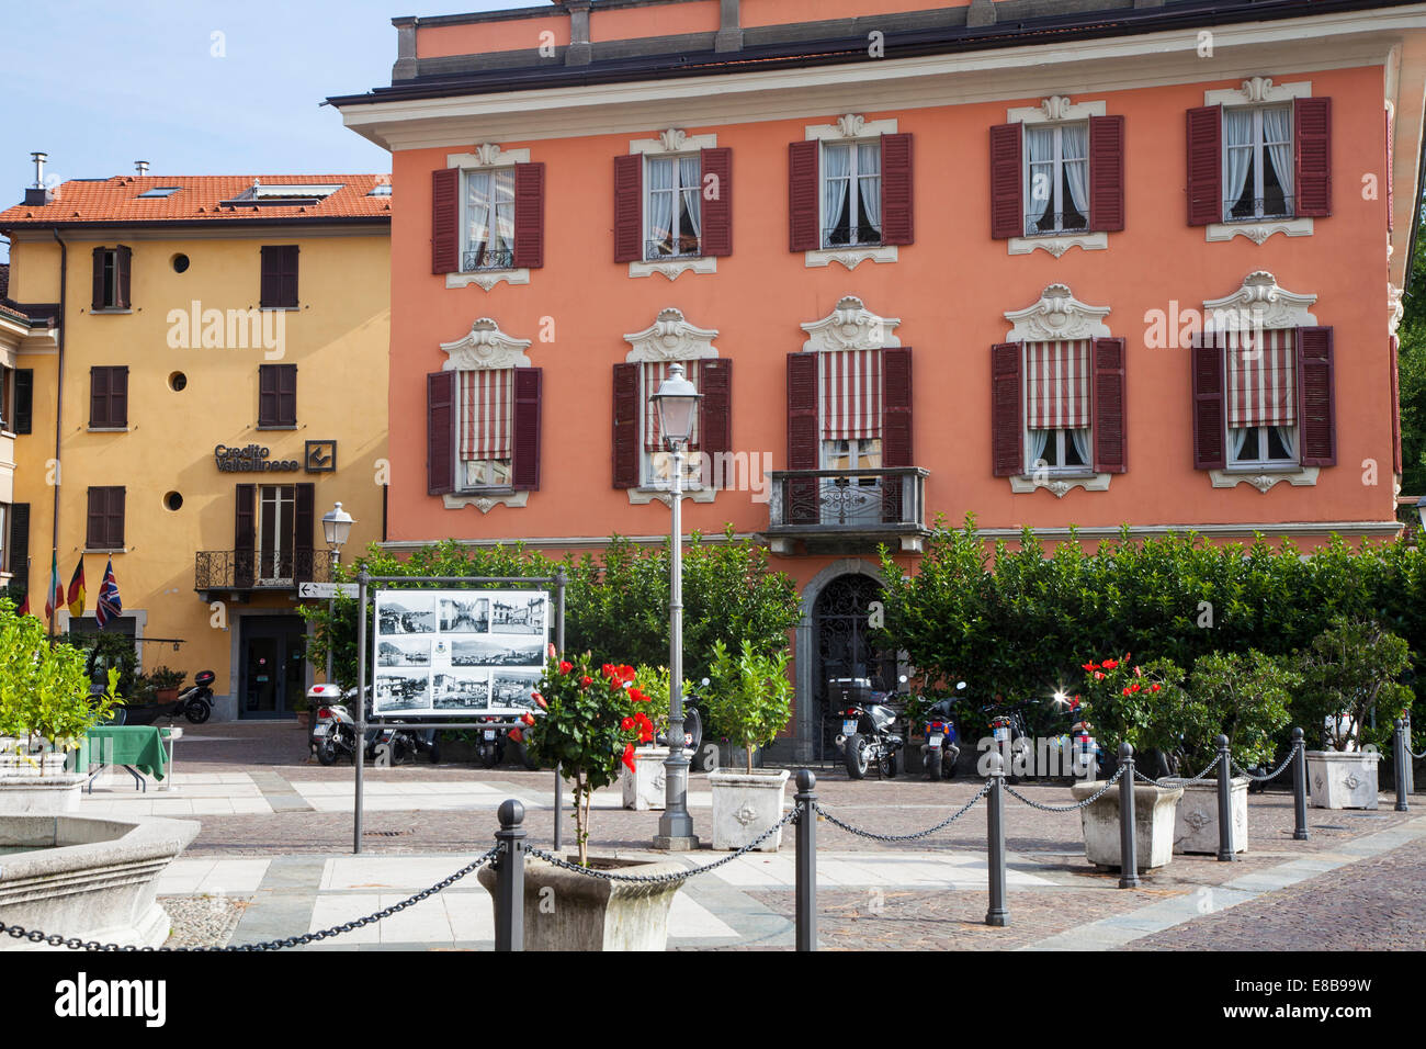
POLYGON ((135 160, 155 176, 389 171, 319 103, 391 83, 391 19, 530 6, 0 0, 0 207, 33 184, 34 150, 61 180, 133 174, 135 160))

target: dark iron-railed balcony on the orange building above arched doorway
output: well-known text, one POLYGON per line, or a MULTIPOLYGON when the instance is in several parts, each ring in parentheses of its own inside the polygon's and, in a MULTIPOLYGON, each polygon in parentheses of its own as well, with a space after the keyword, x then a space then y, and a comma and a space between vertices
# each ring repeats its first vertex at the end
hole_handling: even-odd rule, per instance
POLYGON ((881 544, 918 551, 925 527, 921 467, 774 470, 767 538, 773 552, 851 554, 881 544))

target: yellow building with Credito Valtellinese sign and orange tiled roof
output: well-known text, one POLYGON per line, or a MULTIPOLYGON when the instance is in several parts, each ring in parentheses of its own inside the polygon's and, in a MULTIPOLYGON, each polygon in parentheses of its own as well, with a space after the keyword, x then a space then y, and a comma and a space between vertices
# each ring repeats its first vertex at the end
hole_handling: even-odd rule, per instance
POLYGON ((106 629, 145 669, 215 671, 215 718, 289 715, 322 515, 356 520, 348 552, 384 538, 389 178, 39 181, 0 211, 0 512, 29 554, 0 582, 44 615, 51 548, 66 589, 83 558, 53 627, 96 629, 113 562, 106 629))

